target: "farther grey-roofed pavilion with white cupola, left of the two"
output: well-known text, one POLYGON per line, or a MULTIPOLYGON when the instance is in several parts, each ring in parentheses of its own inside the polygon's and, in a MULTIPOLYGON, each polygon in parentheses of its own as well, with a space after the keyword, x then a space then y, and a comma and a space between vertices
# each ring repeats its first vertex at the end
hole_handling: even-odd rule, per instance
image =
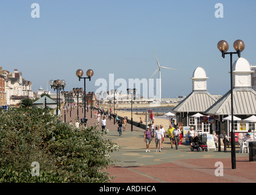
MULTIPOLYGON (((211 107, 217 99, 207 91, 207 82, 205 70, 197 67, 192 76, 192 93, 181 101, 173 112, 176 113, 177 123, 182 122, 183 126, 194 126, 194 130, 204 133, 210 133, 211 123, 209 121, 200 121, 205 110, 211 107)), ((213 126, 215 123, 212 124, 213 126)))

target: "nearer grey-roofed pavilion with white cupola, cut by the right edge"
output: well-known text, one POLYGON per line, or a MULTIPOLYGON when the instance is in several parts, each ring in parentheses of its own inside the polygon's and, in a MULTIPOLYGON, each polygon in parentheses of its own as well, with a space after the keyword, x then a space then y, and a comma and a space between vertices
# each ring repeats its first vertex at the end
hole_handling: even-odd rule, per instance
MULTIPOLYGON (((232 66, 233 73, 233 115, 235 141, 238 137, 248 132, 255 131, 255 122, 246 122, 252 115, 256 115, 256 91, 252 89, 252 73, 249 62, 240 57, 232 66), (236 121, 235 116, 241 121, 236 121)), ((214 115, 216 118, 216 130, 225 130, 227 136, 230 137, 231 122, 225 121, 224 118, 231 115, 231 91, 228 91, 222 98, 205 111, 206 115, 214 115)))

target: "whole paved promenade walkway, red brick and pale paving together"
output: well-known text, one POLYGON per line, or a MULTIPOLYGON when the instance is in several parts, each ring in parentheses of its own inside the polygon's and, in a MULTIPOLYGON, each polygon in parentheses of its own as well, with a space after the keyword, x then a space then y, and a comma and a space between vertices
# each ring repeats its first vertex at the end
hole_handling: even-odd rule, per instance
MULTIPOLYGON (((83 117, 81 109, 80 118, 83 117)), ((63 114, 64 116, 64 114, 63 114)), ((77 110, 72 111, 72 121, 77 117, 77 110)), ((129 116, 128 116, 129 117, 129 116)), ((96 118, 90 110, 86 112, 88 125, 96 124, 96 118)), ((70 121, 69 113, 66 121, 70 121)), ((191 152, 189 146, 179 145, 178 150, 170 147, 169 138, 165 138, 162 152, 155 152, 154 141, 151 141, 151 152, 146 151, 143 141, 143 129, 134 126, 131 132, 127 125, 119 137, 117 124, 107 119, 107 129, 110 132, 104 135, 120 146, 120 150, 111 154, 112 159, 118 160, 115 166, 108 169, 115 179, 114 183, 255 183, 256 161, 249 161, 248 153, 239 153, 236 148, 236 169, 232 169, 231 152, 210 149, 208 152, 191 152), (223 165, 223 169, 220 164, 223 165), (217 170, 216 170, 217 169, 217 170), (220 176, 216 176, 216 172, 220 176), (223 173, 223 174, 222 174, 223 173)), ((100 127, 99 127, 99 130, 100 127)), ((167 129, 165 129, 167 131, 167 129)))

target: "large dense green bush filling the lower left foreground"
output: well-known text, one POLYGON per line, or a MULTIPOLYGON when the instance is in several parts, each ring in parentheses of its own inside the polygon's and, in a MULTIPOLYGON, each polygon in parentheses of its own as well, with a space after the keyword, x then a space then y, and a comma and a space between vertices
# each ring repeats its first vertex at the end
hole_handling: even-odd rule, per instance
POLYGON ((49 109, 10 108, 0 115, 0 182, 109 182, 119 146, 96 127, 75 129, 49 109), (31 175, 31 163, 40 176, 31 175))

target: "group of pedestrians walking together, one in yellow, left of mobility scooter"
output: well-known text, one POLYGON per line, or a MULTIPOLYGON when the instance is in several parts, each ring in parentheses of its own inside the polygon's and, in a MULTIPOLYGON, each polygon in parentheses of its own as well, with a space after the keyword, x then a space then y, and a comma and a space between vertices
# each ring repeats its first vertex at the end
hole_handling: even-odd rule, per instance
MULTIPOLYGON (((173 127, 173 124, 170 124, 169 129, 167 131, 170 141, 171 141, 171 148, 173 148, 173 144, 175 144, 176 150, 179 146, 179 135, 181 135, 181 130, 179 126, 176 125, 173 127)), ((155 141, 156 150, 155 152, 159 151, 162 152, 162 144, 164 143, 164 138, 166 137, 165 129, 162 124, 160 126, 156 126, 154 121, 152 121, 151 126, 147 126, 147 130, 144 132, 144 142, 146 143, 146 152, 150 152, 150 143, 152 140, 155 141)))

